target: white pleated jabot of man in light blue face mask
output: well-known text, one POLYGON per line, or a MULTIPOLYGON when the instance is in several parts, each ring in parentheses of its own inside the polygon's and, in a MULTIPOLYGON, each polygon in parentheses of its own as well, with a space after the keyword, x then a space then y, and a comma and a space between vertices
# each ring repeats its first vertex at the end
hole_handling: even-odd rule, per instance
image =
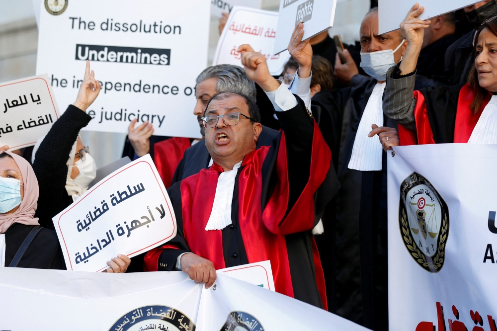
POLYGON ((371 125, 383 126, 383 90, 386 83, 376 83, 369 97, 359 128, 355 135, 352 155, 348 163, 349 169, 360 171, 381 170, 383 148, 377 136, 368 137, 371 125))

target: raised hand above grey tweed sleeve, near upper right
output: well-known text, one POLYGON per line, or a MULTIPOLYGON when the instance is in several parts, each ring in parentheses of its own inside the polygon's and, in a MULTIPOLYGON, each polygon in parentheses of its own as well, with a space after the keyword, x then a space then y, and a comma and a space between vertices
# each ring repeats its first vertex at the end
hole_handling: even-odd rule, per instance
POLYGON ((416 70, 417 58, 423 45, 424 29, 430 26, 430 20, 417 18, 424 11, 424 7, 419 7, 416 3, 409 10, 404 21, 401 23, 401 29, 404 32, 404 38, 407 40, 407 49, 402 59, 400 70, 403 75, 409 74, 416 70))

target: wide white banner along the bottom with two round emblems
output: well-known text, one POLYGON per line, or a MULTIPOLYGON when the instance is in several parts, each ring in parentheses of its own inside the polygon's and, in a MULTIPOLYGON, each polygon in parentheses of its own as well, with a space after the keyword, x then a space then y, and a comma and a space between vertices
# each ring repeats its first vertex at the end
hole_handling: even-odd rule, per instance
POLYGON ((2 268, 0 330, 365 331, 341 317, 218 273, 108 274, 2 268))

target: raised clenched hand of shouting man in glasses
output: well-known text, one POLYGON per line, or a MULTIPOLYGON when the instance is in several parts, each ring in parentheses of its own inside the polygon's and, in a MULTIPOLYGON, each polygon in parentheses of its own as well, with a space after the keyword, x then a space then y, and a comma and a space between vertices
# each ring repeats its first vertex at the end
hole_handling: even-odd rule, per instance
POLYGON ((264 55, 254 52, 248 44, 240 46, 237 52, 242 55, 242 64, 248 78, 259 84, 266 92, 278 89, 279 83, 269 73, 264 55))

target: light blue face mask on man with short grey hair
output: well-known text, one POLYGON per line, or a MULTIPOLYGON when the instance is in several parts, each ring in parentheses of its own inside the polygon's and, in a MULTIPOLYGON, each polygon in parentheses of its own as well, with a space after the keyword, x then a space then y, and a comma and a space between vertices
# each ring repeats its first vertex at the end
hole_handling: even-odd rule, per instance
POLYGON ((375 80, 380 82, 385 81, 387 79, 387 71, 396 65, 394 53, 401 48, 405 40, 395 50, 387 49, 386 51, 371 53, 361 52, 361 68, 375 80))

